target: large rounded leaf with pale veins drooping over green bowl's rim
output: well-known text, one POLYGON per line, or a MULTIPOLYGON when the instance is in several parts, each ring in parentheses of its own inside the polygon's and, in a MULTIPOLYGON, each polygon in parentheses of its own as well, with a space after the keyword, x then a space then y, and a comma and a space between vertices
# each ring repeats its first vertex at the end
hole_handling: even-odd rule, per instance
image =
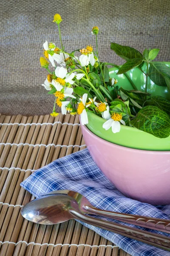
POLYGON ((133 127, 159 138, 170 135, 170 117, 156 106, 145 106, 130 123, 133 127))

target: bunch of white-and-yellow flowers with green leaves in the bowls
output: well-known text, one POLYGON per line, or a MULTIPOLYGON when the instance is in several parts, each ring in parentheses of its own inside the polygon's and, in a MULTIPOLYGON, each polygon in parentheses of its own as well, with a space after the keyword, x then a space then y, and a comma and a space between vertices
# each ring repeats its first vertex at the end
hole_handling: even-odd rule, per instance
POLYGON ((59 14, 54 15, 57 23, 61 47, 45 41, 44 57, 40 64, 48 71, 42 84, 48 94, 54 96, 51 116, 57 116, 56 105, 62 114, 79 114, 82 125, 88 124, 88 112, 105 119, 102 127, 111 128, 113 133, 120 131, 122 125, 135 127, 155 137, 170 136, 170 101, 163 96, 148 93, 148 79, 162 90, 170 92, 170 68, 163 62, 153 61, 159 49, 144 49, 143 53, 131 47, 111 43, 111 50, 126 62, 122 66, 100 62, 97 36, 99 28, 93 27, 91 33, 96 37, 96 47, 88 45, 71 53, 62 45, 59 14), (49 69, 51 63, 52 68, 49 69), (118 79, 110 78, 109 66, 118 69, 117 75, 125 74, 133 90, 119 87, 118 79), (145 87, 138 90, 127 75, 127 71, 137 67, 145 75, 145 87))

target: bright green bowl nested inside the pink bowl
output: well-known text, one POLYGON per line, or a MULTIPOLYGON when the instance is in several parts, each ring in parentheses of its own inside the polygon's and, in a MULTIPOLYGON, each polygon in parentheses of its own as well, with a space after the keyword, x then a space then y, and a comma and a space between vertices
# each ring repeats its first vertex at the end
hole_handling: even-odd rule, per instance
MULTIPOLYGON (((164 63, 167 64, 167 66, 170 66, 170 62, 164 63)), ((122 86, 127 90, 133 90, 132 85, 125 75, 116 75, 118 69, 113 67, 110 68, 109 71, 110 77, 118 80, 116 85, 119 87, 122 86)), ((144 91, 144 74, 138 68, 134 68, 133 70, 128 71, 127 74, 130 76, 138 90, 144 91)), ((150 81, 150 79, 148 81, 148 92, 153 96, 160 95, 170 100, 170 93, 167 91, 167 87, 158 86, 150 81)), ((86 126, 90 131, 104 140, 128 148, 152 151, 170 151, 170 136, 164 139, 160 139, 153 136, 152 134, 148 134, 144 131, 140 131, 139 129, 124 125, 121 125, 119 133, 113 134, 111 128, 107 131, 102 128, 104 122, 105 119, 88 111, 88 124, 86 126)))

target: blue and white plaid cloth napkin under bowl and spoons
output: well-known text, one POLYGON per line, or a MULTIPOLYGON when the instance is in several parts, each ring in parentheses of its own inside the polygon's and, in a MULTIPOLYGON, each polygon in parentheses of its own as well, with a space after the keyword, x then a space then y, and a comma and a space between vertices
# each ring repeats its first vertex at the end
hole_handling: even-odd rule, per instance
MULTIPOLYGON (((115 186, 102 174, 96 166, 88 149, 62 157, 47 166, 37 170, 21 183, 24 189, 39 197, 45 192, 68 189, 84 195, 94 207, 114 212, 124 212, 136 215, 144 215, 155 218, 170 218, 170 205, 152 206, 140 203, 122 195, 115 186)), ((109 220, 105 217, 99 217, 109 220)), ((114 221, 121 223, 120 221, 114 221)), ((142 242, 127 238, 122 235, 103 230, 81 222, 86 227, 94 230, 100 236, 112 241, 132 256, 168 256, 170 252, 153 247, 142 242)), ((125 224, 125 223, 122 223, 125 224)), ((132 224, 126 224, 136 227, 132 224)), ((156 230, 142 230, 159 233, 164 236, 170 234, 156 230)))

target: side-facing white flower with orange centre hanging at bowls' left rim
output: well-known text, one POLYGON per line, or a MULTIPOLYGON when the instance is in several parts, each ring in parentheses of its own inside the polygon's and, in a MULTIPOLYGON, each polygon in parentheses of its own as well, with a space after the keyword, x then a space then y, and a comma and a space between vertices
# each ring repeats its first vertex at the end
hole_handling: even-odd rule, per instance
POLYGON ((88 97, 88 94, 84 93, 82 96, 82 99, 80 98, 81 102, 78 102, 77 113, 80 115, 82 125, 88 124, 88 115, 85 108, 87 97, 88 97))

